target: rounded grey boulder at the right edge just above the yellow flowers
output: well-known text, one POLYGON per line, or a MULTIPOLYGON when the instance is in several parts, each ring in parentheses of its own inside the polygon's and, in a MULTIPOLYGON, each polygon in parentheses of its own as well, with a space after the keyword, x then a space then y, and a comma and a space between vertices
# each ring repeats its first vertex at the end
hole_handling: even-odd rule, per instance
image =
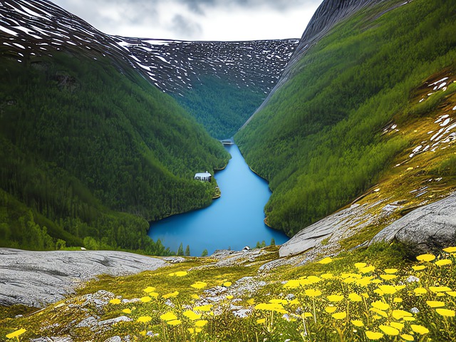
POLYGON ((382 229, 373 242, 397 240, 410 244, 417 252, 453 246, 456 244, 456 192, 409 212, 382 229))

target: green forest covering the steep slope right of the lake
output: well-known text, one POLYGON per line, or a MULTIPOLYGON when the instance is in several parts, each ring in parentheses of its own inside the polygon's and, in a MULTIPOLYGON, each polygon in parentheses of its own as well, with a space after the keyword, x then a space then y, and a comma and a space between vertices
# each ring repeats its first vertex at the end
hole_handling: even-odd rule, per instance
POLYGON ((271 227, 294 234, 363 194, 417 138, 384 129, 430 115, 442 100, 408 109, 423 81, 455 71, 456 4, 400 4, 383 1, 337 24, 236 135, 270 181, 271 227))

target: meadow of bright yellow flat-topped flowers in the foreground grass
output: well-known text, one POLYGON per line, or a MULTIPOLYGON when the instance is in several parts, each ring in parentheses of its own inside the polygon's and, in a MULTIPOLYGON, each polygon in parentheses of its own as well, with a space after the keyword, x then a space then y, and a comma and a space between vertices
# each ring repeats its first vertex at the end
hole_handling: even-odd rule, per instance
MULTIPOLYGON (((75 341, 90 333, 93 341, 114 335, 130 341, 456 341, 455 257, 456 247, 397 267, 356 261, 356 254, 324 257, 311 267, 276 269, 254 292, 238 286, 239 278, 229 279, 239 274, 214 276, 217 269, 196 267, 168 271, 162 278, 147 277, 134 300, 127 299, 131 283, 116 283, 123 294, 103 311, 128 321, 96 336, 88 328, 68 335, 75 341), (164 287, 165 281, 175 289, 164 287)), ((36 324, 52 323, 43 315, 33 318, 36 324)), ((31 321, 21 323, 6 339, 26 341, 24 336, 38 334, 31 321)))

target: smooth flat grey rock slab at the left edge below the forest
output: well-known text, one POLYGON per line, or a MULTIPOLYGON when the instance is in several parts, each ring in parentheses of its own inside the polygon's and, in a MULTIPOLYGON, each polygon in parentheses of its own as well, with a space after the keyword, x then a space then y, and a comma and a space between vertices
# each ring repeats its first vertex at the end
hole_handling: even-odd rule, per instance
POLYGON ((121 276, 167 265, 161 259, 126 252, 0 249, 0 304, 42 307, 97 275, 121 276))

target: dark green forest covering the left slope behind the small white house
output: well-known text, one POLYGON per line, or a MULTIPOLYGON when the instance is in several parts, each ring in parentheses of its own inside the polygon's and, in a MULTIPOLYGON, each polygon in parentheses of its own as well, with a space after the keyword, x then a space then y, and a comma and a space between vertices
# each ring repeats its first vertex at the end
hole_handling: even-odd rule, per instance
POLYGON ((222 144, 108 58, 0 58, 1 246, 169 253, 148 221, 210 204, 193 175, 226 165, 222 144))

